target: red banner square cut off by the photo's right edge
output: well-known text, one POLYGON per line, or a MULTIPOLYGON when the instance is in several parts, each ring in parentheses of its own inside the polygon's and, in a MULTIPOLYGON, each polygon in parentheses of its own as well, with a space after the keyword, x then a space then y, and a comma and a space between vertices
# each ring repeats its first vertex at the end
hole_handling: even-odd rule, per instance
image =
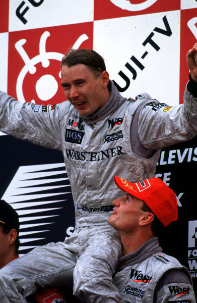
POLYGON ((180 104, 183 103, 183 93, 188 81, 186 54, 197 40, 196 9, 181 10, 180 15, 180 104))

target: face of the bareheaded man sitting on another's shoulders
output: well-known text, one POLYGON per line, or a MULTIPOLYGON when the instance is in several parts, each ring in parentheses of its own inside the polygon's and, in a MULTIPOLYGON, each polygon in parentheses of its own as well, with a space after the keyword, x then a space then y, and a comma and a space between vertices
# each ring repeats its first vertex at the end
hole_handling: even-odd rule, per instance
POLYGON ((84 64, 61 68, 63 93, 81 116, 92 115, 106 103, 102 75, 95 78, 84 64))

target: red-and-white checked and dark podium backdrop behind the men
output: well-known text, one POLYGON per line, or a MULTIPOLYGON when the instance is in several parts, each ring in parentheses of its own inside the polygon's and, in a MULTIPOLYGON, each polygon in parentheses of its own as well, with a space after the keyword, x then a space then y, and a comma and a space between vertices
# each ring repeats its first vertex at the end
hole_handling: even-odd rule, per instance
MULTIPOLYGON (((68 48, 93 48, 125 97, 147 92, 182 103, 185 56, 197 39, 197 0, 2 0, 0 89, 24 102, 64 101, 60 61, 68 48)), ((20 254, 74 231, 74 205, 60 151, 1 133, 1 198, 20 217, 20 254)), ((197 139, 162 150, 156 176, 177 195, 179 221, 164 251, 190 271, 197 293, 197 139)))

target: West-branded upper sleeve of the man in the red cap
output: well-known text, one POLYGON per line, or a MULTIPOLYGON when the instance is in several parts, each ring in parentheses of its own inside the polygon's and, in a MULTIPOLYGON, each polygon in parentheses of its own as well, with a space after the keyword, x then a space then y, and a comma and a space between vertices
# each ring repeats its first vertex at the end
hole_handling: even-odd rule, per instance
POLYGON ((158 281, 154 303, 195 303, 195 295, 189 277, 182 270, 170 270, 158 281))

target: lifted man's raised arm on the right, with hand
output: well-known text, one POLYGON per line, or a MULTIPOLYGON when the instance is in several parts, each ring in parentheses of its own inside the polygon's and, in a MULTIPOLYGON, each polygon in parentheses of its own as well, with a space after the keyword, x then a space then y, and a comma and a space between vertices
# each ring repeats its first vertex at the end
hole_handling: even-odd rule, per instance
POLYGON ((190 80, 184 93, 184 104, 157 106, 154 99, 140 113, 138 131, 141 143, 148 149, 163 148, 193 138, 197 134, 197 43, 187 53, 190 80))

